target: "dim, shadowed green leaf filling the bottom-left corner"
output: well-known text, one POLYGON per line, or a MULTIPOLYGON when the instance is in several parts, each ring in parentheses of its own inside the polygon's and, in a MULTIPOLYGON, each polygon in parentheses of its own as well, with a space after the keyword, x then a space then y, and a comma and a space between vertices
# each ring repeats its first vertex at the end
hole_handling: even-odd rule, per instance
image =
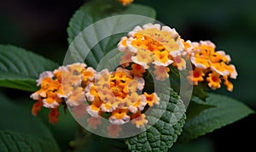
POLYGON ((0 94, 0 151, 60 151, 44 123, 0 94))

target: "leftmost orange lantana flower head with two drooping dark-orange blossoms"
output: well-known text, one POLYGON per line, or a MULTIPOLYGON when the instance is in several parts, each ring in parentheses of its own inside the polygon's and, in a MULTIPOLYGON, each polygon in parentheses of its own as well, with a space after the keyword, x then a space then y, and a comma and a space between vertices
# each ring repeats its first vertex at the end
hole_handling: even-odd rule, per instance
POLYGON ((87 86, 96 73, 92 68, 85 67, 85 64, 73 64, 41 73, 37 80, 40 89, 30 96, 38 100, 33 104, 32 115, 38 115, 38 111, 44 106, 50 109, 49 122, 55 124, 60 115, 58 107, 61 104, 77 106, 84 102, 84 86, 87 86))

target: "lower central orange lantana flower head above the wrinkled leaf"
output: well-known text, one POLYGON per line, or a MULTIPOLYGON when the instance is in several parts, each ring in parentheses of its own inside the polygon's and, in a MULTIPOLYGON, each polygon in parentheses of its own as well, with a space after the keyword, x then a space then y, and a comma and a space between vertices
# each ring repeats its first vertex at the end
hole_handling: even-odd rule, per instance
POLYGON ((132 120, 136 127, 144 127, 147 120, 141 111, 147 104, 158 104, 159 98, 156 93, 138 94, 143 87, 143 77, 132 75, 131 70, 121 67, 113 72, 102 70, 96 73, 95 81, 85 87, 85 96, 90 102, 86 110, 94 117, 110 112, 112 115, 108 120, 113 125, 123 125, 132 120))

